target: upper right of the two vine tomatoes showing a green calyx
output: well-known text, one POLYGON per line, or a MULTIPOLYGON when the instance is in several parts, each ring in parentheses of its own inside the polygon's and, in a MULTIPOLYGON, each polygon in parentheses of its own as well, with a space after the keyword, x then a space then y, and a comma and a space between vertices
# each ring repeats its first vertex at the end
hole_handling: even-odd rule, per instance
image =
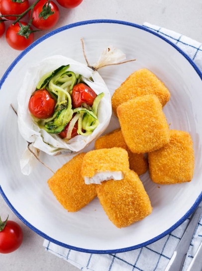
MULTIPOLYGON (((42 7, 46 3, 46 6, 48 5, 48 0, 40 0, 34 7, 33 13, 32 13, 32 24, 41 30, 47 30, 52 28, 59 19, 59 8, 58 6, 53 2, 50 1, 51 11, 54 11, 53 14, 49 15, 47 19, 43 19, 43 17, 39 17, 40 12, 42 11, 42 7)), ((31 11, 29 11, 29 17, 31 16, 31 11)))

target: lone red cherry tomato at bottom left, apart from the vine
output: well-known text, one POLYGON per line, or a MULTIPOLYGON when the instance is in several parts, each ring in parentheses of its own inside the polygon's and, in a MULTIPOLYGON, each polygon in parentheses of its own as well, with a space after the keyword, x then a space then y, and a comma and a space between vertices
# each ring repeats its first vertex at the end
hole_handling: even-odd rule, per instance
MULTIPOLYGON (((4 223, 0 220, 1 224, 4 223)), ((23 240, 21 227, 14 221, 7 220, 4 228, 0 231, 0 253, 7 254, 20 247, 23 240)))

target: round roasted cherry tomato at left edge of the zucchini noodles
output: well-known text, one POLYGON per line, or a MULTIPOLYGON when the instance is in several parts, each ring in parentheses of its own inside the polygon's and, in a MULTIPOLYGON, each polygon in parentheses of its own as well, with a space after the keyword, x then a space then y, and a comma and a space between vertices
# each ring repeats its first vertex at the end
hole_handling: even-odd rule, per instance
POLYGON ((55 100, 47 90, 36 90, 29 99, 29 111, 37 118, 48 118, 53 115, 55 100))

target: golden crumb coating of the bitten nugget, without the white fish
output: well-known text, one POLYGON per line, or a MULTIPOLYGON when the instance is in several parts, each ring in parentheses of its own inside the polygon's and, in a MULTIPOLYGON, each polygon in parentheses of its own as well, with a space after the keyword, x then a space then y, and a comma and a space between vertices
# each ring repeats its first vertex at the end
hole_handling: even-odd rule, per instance
POLYGON ((106 171, 126 172, 129 169, 128 153, 122 148, 100 149, 88 152, 82 163, 82 177, 94 177, 106 171))

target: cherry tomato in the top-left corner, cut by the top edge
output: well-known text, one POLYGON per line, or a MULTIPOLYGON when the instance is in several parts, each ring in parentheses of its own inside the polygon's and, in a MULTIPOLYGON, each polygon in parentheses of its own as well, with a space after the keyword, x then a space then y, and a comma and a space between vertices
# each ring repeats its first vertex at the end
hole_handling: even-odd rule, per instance
MULTIPOLYGON (((29 7, 29 1, 24 0, 22 3, 13 2, 12 0, 0 1, 0 13, 2 15, 20 15, 29 7)), ((16 16, 6 16, 8 20, 16 20, 16 16)))

